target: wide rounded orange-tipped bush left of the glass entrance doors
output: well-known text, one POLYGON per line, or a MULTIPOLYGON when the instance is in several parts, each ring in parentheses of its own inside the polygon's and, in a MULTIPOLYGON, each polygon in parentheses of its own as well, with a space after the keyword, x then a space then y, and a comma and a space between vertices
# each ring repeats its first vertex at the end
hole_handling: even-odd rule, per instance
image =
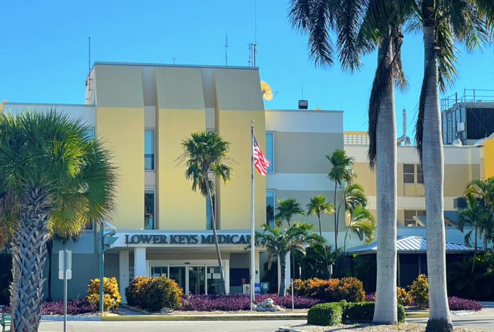
POLYGON ((125 289, 127 303, 158 311, 180 306, 183 291, 175 280, 161 277, 136 277, 125 289))

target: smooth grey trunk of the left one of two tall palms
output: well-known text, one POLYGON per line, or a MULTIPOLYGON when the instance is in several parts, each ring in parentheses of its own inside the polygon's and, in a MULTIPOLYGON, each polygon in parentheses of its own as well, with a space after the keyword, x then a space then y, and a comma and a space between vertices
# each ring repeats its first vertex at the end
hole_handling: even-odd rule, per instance
MULTIPOLYGON (((383 42, 388 48, 378 50, 378 64, 391 70, 391 37, 383 42)), ((379 66, 379 65, 378 65, 379 66)), ((377 73, 377 72, 376 72, 377 73)), ((392 75, 384 75, 379 114, 375 128, 375 181, 377 189, 377 283, 373 323, 397 321, 396 299, 396 122, 395 87, 392 75)))

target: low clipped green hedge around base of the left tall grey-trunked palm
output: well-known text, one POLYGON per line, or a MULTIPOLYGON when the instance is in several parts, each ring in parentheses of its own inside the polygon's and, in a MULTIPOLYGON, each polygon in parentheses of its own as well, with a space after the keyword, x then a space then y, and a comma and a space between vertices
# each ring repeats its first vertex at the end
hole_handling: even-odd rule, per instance
MULTIPOLYGON (((398 304, 398 323, 405 322, 405 307, 398 304)), ((374 316, 374 302, 331 302, 316 304, 307 313, 307 323, 321 326, 352 322, 370 322, 374 316)))

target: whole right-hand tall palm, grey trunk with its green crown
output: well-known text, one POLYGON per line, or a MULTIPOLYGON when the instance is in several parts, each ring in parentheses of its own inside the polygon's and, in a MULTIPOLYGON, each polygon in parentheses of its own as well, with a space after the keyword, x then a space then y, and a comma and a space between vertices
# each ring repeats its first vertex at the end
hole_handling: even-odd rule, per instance
POLYGON ((419 23, 424 38, 424 78, 415 130, 422 161, 427 212, 427 271, 430 314, 427 331, 452 331, 446 292, 444 234, 444 155, 439 89, 456 75, 455 42, 472 50, 490 39, 494 18, 492 1, 419 1, 419 23), (491 29, 489 31, 489 29, 491 29))

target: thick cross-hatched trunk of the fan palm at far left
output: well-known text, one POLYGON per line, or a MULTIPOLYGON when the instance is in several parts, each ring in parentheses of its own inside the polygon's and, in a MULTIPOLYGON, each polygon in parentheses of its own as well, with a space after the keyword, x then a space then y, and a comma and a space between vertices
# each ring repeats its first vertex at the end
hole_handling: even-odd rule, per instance
POLYGON ((40 185, 26 190, 21 223, 14 233, 12 266, 18 267, 15 294, 11 294, 11 331, 38 331, 43 304, 43 267, 46 260, 50 197, 40 185))

